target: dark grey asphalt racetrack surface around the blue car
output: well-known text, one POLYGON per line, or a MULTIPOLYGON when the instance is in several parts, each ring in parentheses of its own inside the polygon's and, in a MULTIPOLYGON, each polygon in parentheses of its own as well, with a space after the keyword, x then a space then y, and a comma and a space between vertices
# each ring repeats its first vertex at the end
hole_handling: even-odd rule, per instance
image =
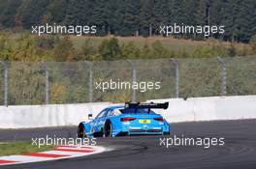
MULTIPOLYGON (((224 146, 204 149, 197 146, 160 146, 161 136, 97 138, 97 145, 113 151, 79 158, 0 166, 5 169, 255 169, 256 120, 171 124, 171 135, 184 137, 224 137, 224 146)), ((31 141, 31 137, 56 135, 74 137, 77 127, 0 129, 0 142, 31 141)), ((163 138, 163 137, 161 137, 163 138)))

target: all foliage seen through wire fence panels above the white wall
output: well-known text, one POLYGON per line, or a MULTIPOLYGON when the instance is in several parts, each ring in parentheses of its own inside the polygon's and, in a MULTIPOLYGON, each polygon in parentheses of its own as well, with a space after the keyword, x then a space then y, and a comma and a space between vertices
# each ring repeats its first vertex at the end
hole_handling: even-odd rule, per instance
MULTIPOLYGON (((227 63, 228 95, 256 93, 256 60, 254 57, 223 58, 227 63)), ((221 67, 216 58, 178 59, 180 97, 219 96, 221 93, 221 67)), ((137 99, 175 97, 175 66, 171 59, 136 60, 137 81, 160 81, 161 89, 137 91, 137 99)), ((88 101, 89 70, 84 62, 72 63, 20 63, 9 67, 9 103, 42 104, 46 95, 46 71, 49 73, 50 103, 79 103, 88 101)), ((131 81, 132 66, 127 61, 93 63, 93 81, 131 81)), ((95 86, 94 86, 95 87, 95 86)), ((132 98, 132 90, 94 88, 94 101, 123 102, 132 98)))

